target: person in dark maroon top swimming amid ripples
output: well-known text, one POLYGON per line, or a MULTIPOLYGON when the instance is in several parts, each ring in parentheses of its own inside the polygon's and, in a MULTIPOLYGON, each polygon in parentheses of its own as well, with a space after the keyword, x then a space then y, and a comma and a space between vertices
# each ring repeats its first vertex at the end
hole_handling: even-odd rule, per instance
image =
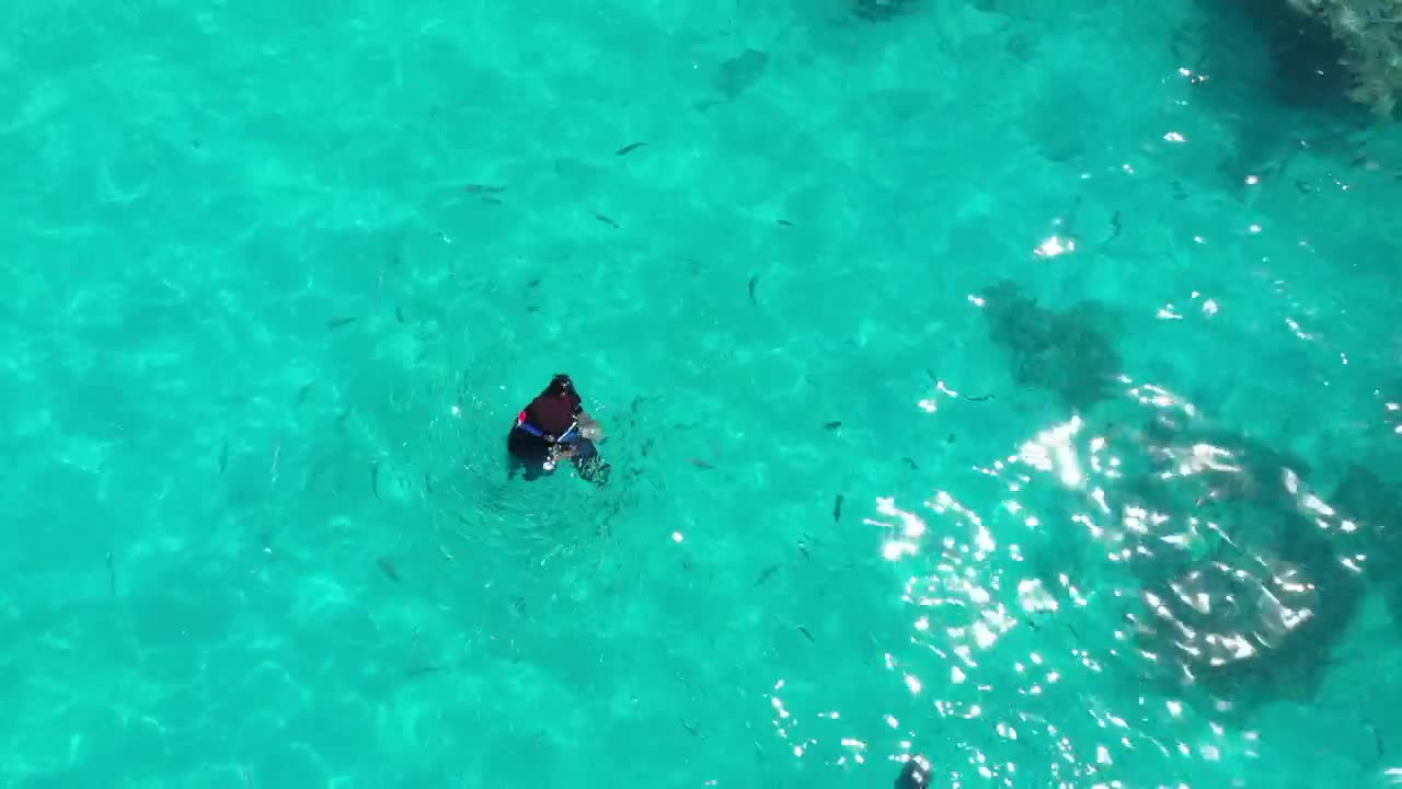
POLYGON ((557 373, 545 390, 516 414, 506 437, 506 451, 512 456, 509 476, 523 472, 526 479, 537 479, 569 458, 580 477, 604 484, 610 468, 594 446, 594 441, 603 438, 599 423, 585 413, 575 382, 557 373))

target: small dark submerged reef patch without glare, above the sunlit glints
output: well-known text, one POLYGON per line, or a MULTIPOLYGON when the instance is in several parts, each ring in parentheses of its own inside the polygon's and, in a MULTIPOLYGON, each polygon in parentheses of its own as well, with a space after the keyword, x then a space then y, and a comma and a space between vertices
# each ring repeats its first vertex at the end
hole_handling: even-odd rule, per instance
POLYGON ((1009 281, 993 285, 984 298, 988 336, 1008 350, 1014 380, 1054 392, 1078 411, 1110 394, 1120 355, 1105 329, 1112 321, 1103 307, 1081 302, 1049 310, 1009 281))

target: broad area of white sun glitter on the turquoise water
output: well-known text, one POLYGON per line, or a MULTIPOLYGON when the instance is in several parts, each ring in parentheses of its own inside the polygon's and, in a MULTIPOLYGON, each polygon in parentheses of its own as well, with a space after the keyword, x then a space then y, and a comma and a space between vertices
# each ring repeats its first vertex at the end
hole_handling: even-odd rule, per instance
MULTIPOLYGON (((1256 731, 1216 720, 1235 709, 1202 678, 1294 637, 1321 590, 1262 550, 1241 512, 1279 500, 1322 533, 1360 526, 1308 475, 1262 472, 1176 393, 1120 383, 1115 407, 1009 442, 972 482, 946 470, 918 504, 875 501, 869 567, 899 585, 900 622, 854 640, 875 647, 887 692, 838 716, 777 685, 784 752, 885 769, 935 750, 941 786, 1166 786, 1157 776, 1186 760, 1221 779, 1203 785, 1230 786, 1231 771, 1204 765, 1262 752, 1256 731)), ((955 394, 938 383, 931 400, 955 394)), ((1339 562, 1357 573, 1366 559, 1339 562)))

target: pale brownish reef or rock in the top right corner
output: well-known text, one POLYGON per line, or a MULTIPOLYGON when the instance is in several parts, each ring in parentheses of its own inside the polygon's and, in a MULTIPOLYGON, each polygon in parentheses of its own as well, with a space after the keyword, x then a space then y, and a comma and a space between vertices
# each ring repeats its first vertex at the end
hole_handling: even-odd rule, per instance
POLYGON ((1354 76, 1349 95, 1391 117, 1402 97, 1402 0, 1286 0, 1329 25, 1354 76))

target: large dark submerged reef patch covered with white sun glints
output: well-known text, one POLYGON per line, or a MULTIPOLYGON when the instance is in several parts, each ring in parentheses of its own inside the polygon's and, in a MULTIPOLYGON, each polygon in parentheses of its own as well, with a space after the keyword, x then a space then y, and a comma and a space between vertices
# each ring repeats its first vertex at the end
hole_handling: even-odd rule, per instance
POLYGON ((1144 437, 1154 462, 1124 503, 1147 512, 1131 564, 1136 646, 1159 679, 1196 685, 1223 710, 1309 699, 1364 592, 1340 562, 1357 552, 1353 533, 1302 507, 1307 469, 1284 452, 1158 421, 1144 437), (1193 545, 1173 543, 1168 532, 1189 525, 1193 545))

